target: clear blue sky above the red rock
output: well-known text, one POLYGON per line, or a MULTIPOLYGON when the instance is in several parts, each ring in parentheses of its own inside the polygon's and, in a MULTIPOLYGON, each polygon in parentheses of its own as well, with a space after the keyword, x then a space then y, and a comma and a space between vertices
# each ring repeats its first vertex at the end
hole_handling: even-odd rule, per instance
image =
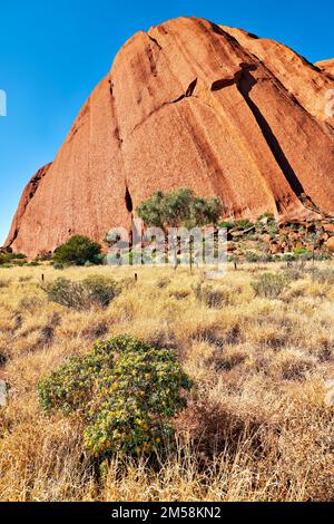
POLYGON ((283 41, 311 61, 334 57, 333 0, 0 0, 0 245, 26 183, 53 159, 119 47, 183 14, 283 41))

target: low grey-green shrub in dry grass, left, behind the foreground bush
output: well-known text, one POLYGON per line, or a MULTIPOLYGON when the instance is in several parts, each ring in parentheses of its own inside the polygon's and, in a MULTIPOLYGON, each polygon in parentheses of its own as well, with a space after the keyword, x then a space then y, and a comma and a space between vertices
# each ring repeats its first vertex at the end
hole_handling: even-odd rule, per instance
POLYGON ((100 275, 91 275, 79 282, 59 278, 42 289, 52 302, 77 310, 92 305, 106 308, 120 292, 114 279, 100 275))

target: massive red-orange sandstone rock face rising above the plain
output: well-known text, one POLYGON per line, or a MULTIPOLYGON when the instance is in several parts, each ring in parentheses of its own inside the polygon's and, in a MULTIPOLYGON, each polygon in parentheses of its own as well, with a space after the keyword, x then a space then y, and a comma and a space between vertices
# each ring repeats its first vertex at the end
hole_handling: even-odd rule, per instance
POLYGON ((7 241, 51 251, 128 227, 156 190, 191 187, 227 215, 334 211, 333 77, 285 46, 195 18, 135 35, 55 162, 30 182, 7 241))

